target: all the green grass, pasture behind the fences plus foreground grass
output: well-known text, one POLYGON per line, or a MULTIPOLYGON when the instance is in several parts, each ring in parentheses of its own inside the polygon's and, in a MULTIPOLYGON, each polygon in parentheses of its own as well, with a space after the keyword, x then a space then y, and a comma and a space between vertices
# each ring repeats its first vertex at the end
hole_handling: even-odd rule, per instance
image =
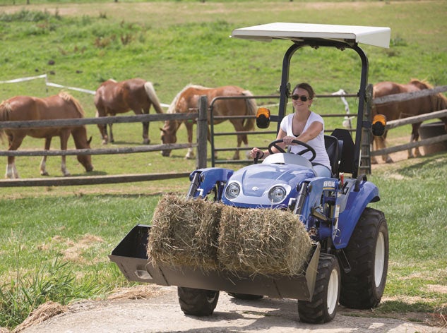
MULTIPOLYGON (((275 94, 282 54, 289 44, 228 36, 234 28, 290 21, 389 26, 390 49, 364 47, 369 81, 406 83, 420 78, 447 85, 446 1, 30 2, 29 6, 21 0, 0 2, 0 81, 47 73, 50 82, 95 90, 108 78, 138 76, 154 83, 165 104, 189 83, 232 84, 255 95, 275 94)), ((298 61, 290 74, 292 83, 309 81, 318 94, 340 88, 356 92, 359 63, 352 52, 306 49, 298 61)), ((54 87, 47 90, 42 79, 0 85, 0 99, 57 92, 54 87)), ((93 117, 93 95, 71 93, 93 117)), ((349 102, 354 111, 357 100, 349 102)), ((344 111, 338 99, 318 99, 314 109, 344 111)), ((150 125, 153 143, 160 141, 160 126, 150 125)), ((220 126, 222 131, 231 129, 229 124, 220 126)), ((102 147, 97 128, 88 126, 88 132, 93 135, 92 147, 102 147)), ((410 129, 392 132, 391 139, 400 138, 408 136, 410 129)), ((114 136, 114 147, 141 145, 141 124, 117 124, 114 136)), ((254 136, 250 144, 266 145, 270 139, 254 136)), ((226 138, 218 140, 220 146, 229 145, 226 138)), ((181 128, 179 142, 185 141, 181 128)), ((58 144, 54 140, 53 147, 58 144)), ((6 143, 2 147, 6 149, 6 143)), ((42 147, 42 140, 26 138, 22 149, 42 147)), ((93 174, 192 171, 195 162, 186 161, 185 153, 174 151, 169 158, 158 153, 93 156, 93 174)), ((2 160, 6 163, 6 157, 2 160)), ((73 175, 85 174, 74 157, 67 161, 73 175)), ((37 177, 39 162, 40 157, 19 157, 20 176, 37 177)), ((386 214, 391 242, 388 284, 375 312, 379 315, 394 311, 446 315, 446 162, 447 155, 439 154, 381 166, 369 176, 381 190, 382 200, 374 207, 386 214)), ((50 157, 47 167, 52 176, 60 176, 59 157, 50 157)), ((107 255, 132 226, 150 223, 160 193, 185 193, 188 185, 187 179, 174 179, 2 188, 0 327, 18 325, 44 301, 102 298, 115 288, 129 286, 107 255)))

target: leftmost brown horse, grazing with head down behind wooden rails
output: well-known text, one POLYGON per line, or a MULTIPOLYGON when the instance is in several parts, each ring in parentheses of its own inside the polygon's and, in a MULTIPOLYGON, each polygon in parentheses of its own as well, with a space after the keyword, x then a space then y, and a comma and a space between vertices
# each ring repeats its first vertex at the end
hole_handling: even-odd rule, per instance
MULTIPOLYGON (((0 105, 0 121, 27 121, 49 119, 83 118, 84 111, 79 102, 65 92, 44 99, 28 96, 12 97, 0 105)), ((0 128, 0 135, 8 138, 8 150, 17 150, 26 135, 32 138, 45 139, 45 150, 49 150, 52 138, 61 138, 61 150, 67 149, 70 134, 73 135, 77 149, 90 149, 85 126, 47 127, 47 128, 0 128)), ((90 155, 78 155, 78 161, 85 171, 92 171, 93 165, 90 155)), ((42 158, 40 174, 48 176, 46 169, 47 157, 42 158)), ((61 170, 64 176, 70 176, 66 169, 66 156, 62 155, 61 170)), ((8 156, 5 178, 18 178, 15 157, 8 156)))

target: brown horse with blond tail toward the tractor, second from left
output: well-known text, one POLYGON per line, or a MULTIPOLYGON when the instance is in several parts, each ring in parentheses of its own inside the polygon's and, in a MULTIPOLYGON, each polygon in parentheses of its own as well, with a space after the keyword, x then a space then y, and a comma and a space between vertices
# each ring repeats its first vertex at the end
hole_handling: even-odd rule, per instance
MULTIPOLYGON (((153 84, 141 78, 131 78, 121 82, 107 80, 97 88, 95 94, 97 117, 115 116, 130 110, 135 114, 149 114, 152 104, 158 114, 163 113, 153 84)), ((114 142, 112 123, 109 123, 110 140, 107 135, 107 125, 99 124, 98 128, 100 128, 103 145, 106 145, 108 141, 114 142)), ((143 144, 148 143, 150 143, 149 123, 145 122, 143 123, 143 144)))

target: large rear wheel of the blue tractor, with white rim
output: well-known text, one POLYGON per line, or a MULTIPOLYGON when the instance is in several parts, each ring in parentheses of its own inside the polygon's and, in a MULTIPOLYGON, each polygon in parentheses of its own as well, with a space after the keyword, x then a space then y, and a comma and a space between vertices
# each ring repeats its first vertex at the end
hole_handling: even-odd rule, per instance
POLYGON ((388 272, 388 252, 385 216, 379 210, 366 207, 345 248, 351 271, 342 272, 340 304, 370 309, 380 303, 388 272))

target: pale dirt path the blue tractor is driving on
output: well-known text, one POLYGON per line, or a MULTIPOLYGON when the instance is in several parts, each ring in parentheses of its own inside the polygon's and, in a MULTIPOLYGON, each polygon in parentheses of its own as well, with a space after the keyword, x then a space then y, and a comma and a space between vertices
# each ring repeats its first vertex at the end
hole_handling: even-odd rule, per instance
MULTIPOLYGON (((241 301, 220 293, 215 313, 192 317, 181 312, 176 287, 148 285, 145 291, 134 288, 134 295, 147 299, 117 299, 75 303, 65 313, 32 325, 25 333, 149 333, 149 332, 393 332, 446 333, 442 327, 393 318, 373 317, 371 311, 340 308, 335 320, 325 325, 299 322, 297 301, 263 298, 241 301), (365 317, 359 317, 364 315, 365 317)), ((124 293, 129 297, 131 292, 124 293)))

